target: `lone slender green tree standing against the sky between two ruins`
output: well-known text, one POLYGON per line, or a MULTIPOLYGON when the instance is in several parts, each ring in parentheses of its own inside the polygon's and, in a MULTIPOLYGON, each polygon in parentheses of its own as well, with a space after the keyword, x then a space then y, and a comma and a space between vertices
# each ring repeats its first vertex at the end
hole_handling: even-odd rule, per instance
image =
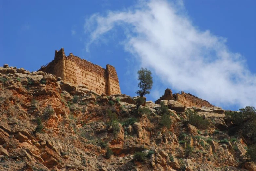
POLYGON ((149 71, 147 68, 141 68, 138 71, 138 80, 138 87, 140 90, 138 90, 136 93, 142 98, 145 94, 150 93, 149 90, 153 86, 151 71, 149 71))

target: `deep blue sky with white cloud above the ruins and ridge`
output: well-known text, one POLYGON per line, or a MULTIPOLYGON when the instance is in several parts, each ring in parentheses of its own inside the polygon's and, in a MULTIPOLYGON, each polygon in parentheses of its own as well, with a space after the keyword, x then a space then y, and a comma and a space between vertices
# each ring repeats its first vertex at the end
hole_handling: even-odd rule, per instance
POLYGON ((136 96, 137 71, 224 109, 256 106, 255 0, 0 0, 0 65, 36 71, 64 48, 103 68, 136 96))

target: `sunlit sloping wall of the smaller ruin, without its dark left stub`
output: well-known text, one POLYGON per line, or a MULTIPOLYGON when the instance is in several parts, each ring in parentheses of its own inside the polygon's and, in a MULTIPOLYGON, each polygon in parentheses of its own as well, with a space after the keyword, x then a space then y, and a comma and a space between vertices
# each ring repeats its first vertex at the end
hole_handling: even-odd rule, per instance
POLYGON ((174 98, 186 107, 213 107, 208 101, 200 99, 190 93, 181 92, 181 94, 174 94, 174 98))

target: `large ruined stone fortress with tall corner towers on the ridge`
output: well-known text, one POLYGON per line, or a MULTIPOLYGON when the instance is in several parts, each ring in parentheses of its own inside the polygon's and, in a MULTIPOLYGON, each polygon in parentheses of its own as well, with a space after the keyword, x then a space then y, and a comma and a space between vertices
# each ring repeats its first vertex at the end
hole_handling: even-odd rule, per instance
POLYGON ((56 50, 54 60, 40 70, 61 77, 63 81, 73 85, 83 84, 99 94, 121 93, 117 72, 113 66, 107 64, 104 69, 72 53, 66 56, 64 48, 56 50))

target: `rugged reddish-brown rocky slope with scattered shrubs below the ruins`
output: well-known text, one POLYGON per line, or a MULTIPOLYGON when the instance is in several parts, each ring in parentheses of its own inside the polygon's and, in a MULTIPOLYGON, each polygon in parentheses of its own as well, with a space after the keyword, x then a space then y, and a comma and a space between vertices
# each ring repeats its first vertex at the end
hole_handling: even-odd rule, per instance
POLYGON ((147 101, 138 115, 136 98, 0 67, 0 170, 256 170, 241 165, 247 144, 227 134, 223 109, 162 100, 171 113, 166 128, 163 107, 147 101), (187 109, 210 124, 184 124, 187 109), (116 113, 116 126, 107 113, 116 113))

